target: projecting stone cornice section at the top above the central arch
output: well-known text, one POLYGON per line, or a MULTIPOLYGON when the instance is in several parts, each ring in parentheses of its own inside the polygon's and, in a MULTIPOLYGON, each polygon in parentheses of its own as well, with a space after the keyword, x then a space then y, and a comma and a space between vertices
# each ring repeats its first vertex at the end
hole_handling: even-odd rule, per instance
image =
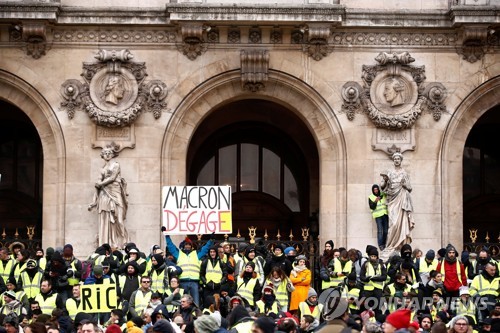
POLYGON ((341 22, 344 8, 340 5, 309 6, 215 6, 167 4, 170 21, 215 22, 341 22))

